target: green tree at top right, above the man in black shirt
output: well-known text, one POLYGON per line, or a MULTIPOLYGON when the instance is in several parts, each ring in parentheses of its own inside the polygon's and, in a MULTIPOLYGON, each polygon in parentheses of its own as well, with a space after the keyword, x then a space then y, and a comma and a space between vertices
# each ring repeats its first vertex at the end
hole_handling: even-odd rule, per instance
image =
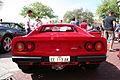
POLYGON ((119 17, 119 7, 117 0, 101 0, 102 4, 98 6, 97 15, 100 18, 105 18, 109 12, 116 12, 116 17, 119 17))

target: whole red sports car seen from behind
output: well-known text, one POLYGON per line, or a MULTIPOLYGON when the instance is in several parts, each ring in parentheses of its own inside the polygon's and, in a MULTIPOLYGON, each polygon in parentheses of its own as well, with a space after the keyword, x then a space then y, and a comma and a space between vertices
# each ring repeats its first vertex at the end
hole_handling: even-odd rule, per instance
POLYGON ((36 66, 62 70, 69 65, 83 65, 95 69, 106 60, 106 52, 105 38, 71 24, 42 25, 12 40, 12 59, 23 72, 32 72, 36 66))

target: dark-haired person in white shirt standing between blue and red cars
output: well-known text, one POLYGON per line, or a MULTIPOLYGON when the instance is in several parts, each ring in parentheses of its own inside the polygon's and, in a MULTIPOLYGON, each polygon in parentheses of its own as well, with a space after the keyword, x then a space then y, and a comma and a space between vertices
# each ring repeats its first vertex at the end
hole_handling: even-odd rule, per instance
POLYGON ((31 19, 30 16, 32 16, 32 10, 28 10, 27 11, 27 16, 26 16, 26 22, 25 22, 25 30, 26 30, 26 34, 29 34, 31 32, 31 19))

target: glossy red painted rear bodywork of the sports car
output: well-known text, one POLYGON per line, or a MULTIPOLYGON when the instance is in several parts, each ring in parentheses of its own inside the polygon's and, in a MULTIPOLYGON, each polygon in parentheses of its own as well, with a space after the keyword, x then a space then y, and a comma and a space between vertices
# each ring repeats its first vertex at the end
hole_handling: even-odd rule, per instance
POLYGON ((13 56, 83 56, 83 55, 106 55, 107 43, 103 37, 96 37, 83 29, 71 24, 48 24, 38 27, 30 34, 24 37, 15 37, 12 40, 13 56), (78 32, 45 32, 40 33, 43 26, 71 26, 78 32), (35 43, 35 49, 32 52, 16 50, 15 44, 19 41, 24 43, 32 41, 35 43), (94 44, 101 41, 104 46, 102 51, 86 51, 84 45, 87 41, 94 44), (59 49, 57 51, 56 49, 59 49))

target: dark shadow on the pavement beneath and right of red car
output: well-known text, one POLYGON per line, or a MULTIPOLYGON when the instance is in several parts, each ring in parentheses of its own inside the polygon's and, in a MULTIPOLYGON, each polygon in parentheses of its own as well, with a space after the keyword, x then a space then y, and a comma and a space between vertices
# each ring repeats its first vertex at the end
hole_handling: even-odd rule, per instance
POLYGON ((120 80, 120 70, 111 63, 103 62, 97 70, 85 68, 66 71, 38 72, 31 75, 33 80, 120 80))

